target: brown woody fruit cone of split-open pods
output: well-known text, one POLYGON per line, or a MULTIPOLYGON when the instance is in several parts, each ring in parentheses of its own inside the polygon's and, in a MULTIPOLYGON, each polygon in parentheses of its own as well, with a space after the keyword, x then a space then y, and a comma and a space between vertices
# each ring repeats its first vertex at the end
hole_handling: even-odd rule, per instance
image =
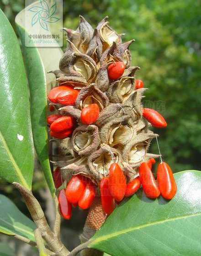
MULTIPOLYGON (((107 19, 93 29, 80 16, 76 31, 63 29, 69 46, 60 60, 60 70, 51 71, 58 88, 49 94, 54 115, 74 120, 68 129, 69 123, 64 125, 61 116, 56 125, 51 124, 57 128, 52 136, 58 140, 61 152, 61 160, 55 165, 67 184, 72 176, 85 176, 86 183, 90 181, 96 187, 96 197, 100 197, 100 181, 109 176, 112 164, 122 169, 128 183, 138 177, 143 162, 159 156, 148 153, 156 134, 149 130, 151 124, 143 117, 146 88, 135 79, 139 67, 131 65, 129 52, 134 40, 122 43, 107 19)), ((106 213, 100 213, 99 206, 96 221, 95 202, 86 224, 99 229, 97 223, 105 221, 106 213)))

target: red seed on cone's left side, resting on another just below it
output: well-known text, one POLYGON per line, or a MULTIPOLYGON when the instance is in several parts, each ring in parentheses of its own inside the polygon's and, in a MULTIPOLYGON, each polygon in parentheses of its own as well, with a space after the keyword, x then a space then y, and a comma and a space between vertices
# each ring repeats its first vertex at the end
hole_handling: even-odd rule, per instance
POLYGON ((74 118, 70 116, 63 116, 57 118, 50 126, 51 131, 60 133, 65 130, 70 130, 74 127, 74 118))

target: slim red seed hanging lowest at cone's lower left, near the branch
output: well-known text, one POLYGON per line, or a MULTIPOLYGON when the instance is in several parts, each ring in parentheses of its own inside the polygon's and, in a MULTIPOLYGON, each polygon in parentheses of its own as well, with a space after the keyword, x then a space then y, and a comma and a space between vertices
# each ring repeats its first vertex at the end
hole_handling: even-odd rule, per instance
POLYGON ((70 219, 72 217, 72 205, 68 202, 66 198, 65 189, 62 189, 58 195, 58 203, 60 213, 63 216, 63 219, 70 219))

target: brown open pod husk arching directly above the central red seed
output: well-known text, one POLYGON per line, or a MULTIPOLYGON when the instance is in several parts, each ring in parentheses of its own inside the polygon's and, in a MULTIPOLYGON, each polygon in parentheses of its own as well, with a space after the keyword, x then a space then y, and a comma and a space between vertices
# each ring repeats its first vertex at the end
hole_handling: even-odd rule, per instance
POLYGON ((100 111, 109 103, 106 94, 100 91, 94 83, 83 87, 80 90, 75 102, 75 107, 82 110, 83 107, 88 107, 92 103, 96 103, 99 106, 100 111))

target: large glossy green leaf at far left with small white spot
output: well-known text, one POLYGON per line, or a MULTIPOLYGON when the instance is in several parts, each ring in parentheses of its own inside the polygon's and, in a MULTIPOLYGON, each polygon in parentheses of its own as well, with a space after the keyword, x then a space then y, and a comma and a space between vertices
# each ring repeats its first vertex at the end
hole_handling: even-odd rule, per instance
POLYGON ((0 177, 31 189, 34 151, 30 102, 19 43, 0 10, 0 177))

